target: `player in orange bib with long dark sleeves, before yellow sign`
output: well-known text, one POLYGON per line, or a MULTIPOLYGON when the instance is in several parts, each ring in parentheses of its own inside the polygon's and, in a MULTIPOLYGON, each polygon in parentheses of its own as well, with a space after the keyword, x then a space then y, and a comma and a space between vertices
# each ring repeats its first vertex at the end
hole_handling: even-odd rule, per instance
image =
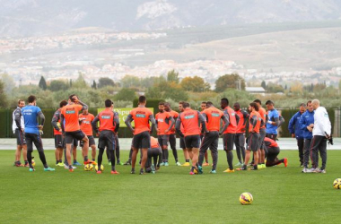
POLYGON ((115 133, 118 131, 118 116, 113 111, 114 104, 110 99, 105 100, 105 109, 101 111, 92 121, 92 128, 99 138, 99 156, 98 156, 98 174, 101 174, 101 161, 103 159, 104 149, 107 147, 111 161, 111 174, 118 174, 115 168, 115 133), (97 127, 100 122, 100 128, 97 127))

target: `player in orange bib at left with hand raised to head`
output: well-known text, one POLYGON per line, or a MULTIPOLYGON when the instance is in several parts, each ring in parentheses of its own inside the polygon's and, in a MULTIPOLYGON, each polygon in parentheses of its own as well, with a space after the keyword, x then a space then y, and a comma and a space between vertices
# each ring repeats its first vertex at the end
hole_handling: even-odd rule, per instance
MULTIPOLYGON (((74 168, 71 162, 71 145, 76 140, 82 140, 84 142, 83 154, 87 155, 89 151, 89 139, 81 131, 79 125, 78 114, 79 111, 87 109, 88 106, 78 99, 76 95, 71 95, 67 101, 68 105, 62 108, 61 121, 63 133, 65 134, 66 141, 66 159, 69 165, 69 171, 74 172, 74 168), (64 125, 65 120, 65 125, 64 125)), ((88 164, 88 157, 84 157, 84 164, 88 164)))

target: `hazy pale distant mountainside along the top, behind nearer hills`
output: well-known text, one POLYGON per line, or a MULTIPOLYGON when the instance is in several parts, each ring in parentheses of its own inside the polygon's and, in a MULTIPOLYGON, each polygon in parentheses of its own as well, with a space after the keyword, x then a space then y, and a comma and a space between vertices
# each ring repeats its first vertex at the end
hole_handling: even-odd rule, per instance
POLYGON ((340 0, 0 0, 0 37, 341 19, 340 0))

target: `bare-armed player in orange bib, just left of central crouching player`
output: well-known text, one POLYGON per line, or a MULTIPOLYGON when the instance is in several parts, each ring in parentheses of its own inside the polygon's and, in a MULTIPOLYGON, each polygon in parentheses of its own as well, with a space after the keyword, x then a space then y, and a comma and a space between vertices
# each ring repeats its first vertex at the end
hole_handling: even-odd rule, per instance
POLYGON ((134 134, 131 174, 135 174, 135 165, 138 149, 142 149, 140 174, 144 174, 144 165, 145 161, 147 160, 148 148, 151 147, 150 137, 151 129, 149 126, 149 121, 152 122, 152 125, 156 129, 156 132, 158 131, 158 126, 155 124, 153 112, 150 109, 145 108, 146 103, 147 100, 145 99, 145 97, 140 96, 138 98, 138 107, 130 111, 129 115, 127 116, 127 119, 125 120, 127 127, 134 134), (133 120, 135 122, 135 128, 131 126, 131 122, 133 120))

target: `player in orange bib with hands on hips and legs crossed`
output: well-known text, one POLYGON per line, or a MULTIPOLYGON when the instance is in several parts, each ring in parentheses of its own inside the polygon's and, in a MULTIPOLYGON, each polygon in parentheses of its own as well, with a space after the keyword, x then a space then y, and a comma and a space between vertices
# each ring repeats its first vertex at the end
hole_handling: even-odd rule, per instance
POLYGON ((199 111, 189 108, 189 103, 182 104, 184 111, 179 114, 175 129, 180 136, 184 137, 186 149, 189 151, 189 156, 192 159, 192 168, 189 174, 194 175, 198 172, 198 152, 200 147, 200 133, 205 130, 205 118, 199 111), (181 132, 181 124, 184 128, 184 133, 181 132), (200 124, 202 130, 200 130, 200 124))

